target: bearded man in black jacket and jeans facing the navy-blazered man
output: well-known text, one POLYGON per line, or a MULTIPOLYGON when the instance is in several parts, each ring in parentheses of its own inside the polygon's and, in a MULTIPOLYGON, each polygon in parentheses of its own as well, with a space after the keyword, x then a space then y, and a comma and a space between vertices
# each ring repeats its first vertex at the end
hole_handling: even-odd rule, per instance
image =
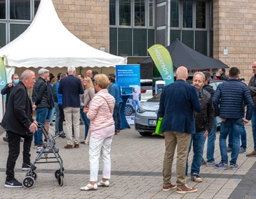
MULTIPOLYGON (((193 85, 196 87, 198 93, 199 101, 202 105, 202 111, 195 113, 196 117, 196 133, 191 134, 191 142, 189 146, 189 152, 191 145, 193 145, 193 161, 191 164, 191 180, 194 182, 202 182, 202 178, 199 175, 201 161, 203 158, 203 146, 206 142, 206 137, 208 136, 211 128, 213 127, 214 119, 214 108, 213 102, 210 98, 210 93, 203 88, 205 81, 205 75, 202 72, 196 72, 193 76, 193 85)), ((186 175, 188 170, 188 163, 186 167, 186 175)))

